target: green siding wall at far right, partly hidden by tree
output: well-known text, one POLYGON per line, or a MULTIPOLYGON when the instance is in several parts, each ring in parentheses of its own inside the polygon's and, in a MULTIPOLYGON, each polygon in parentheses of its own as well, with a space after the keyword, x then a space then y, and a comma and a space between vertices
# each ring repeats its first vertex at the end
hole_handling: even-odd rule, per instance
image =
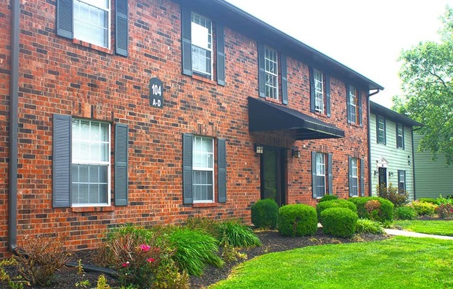
POLYGON ((417 151, 422 135, 413 134, 415 158, 415 197, 437 198, 453 195, 453 167, 445 167, 445 158, 432 160, 430 152, 417 151))

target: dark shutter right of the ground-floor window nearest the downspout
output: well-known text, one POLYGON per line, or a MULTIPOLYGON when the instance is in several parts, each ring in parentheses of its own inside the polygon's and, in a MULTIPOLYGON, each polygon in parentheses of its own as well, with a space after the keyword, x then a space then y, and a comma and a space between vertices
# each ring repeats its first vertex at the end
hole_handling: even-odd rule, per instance
POLYGON ((128 202, 128 144, 129 127, 115 124, 115 206, 128 202))

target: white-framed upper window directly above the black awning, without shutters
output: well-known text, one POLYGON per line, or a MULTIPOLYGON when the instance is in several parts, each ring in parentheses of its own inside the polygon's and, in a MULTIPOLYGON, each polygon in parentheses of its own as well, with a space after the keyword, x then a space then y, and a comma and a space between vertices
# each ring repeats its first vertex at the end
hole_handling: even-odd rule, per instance
POLYGON ((265 61, 265 96, 272 99, 279 99, 279 73, 277 62, 277 51, 264 48, 264 61, 265 61))

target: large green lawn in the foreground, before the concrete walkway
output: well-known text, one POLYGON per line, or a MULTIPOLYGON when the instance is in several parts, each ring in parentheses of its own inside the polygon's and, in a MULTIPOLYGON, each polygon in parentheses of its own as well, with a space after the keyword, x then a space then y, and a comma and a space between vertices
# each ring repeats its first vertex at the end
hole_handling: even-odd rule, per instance
POLYGON ((220 288, 453 288, 453 241, 395 237, 304 247, 241 263, 220 288))

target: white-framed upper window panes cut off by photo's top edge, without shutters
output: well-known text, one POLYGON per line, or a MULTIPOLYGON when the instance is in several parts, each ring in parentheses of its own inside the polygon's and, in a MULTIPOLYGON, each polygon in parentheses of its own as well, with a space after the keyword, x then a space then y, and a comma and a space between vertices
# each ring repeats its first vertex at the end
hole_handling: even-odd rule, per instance
POLYGON ((110 0, 74 0, 74 38, 110 49, 110 0))

